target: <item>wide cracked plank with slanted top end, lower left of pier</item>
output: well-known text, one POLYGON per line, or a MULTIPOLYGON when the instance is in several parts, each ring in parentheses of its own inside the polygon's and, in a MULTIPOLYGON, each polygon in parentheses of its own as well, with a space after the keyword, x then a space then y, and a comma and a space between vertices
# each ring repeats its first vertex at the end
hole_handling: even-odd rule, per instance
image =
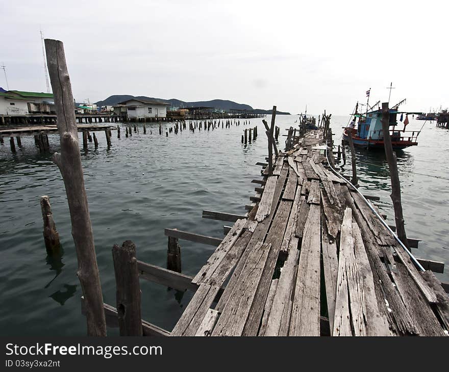
MULTIPOLYGON (((212 336, 240 336, 250 313, 271 244, 259 242, 248 254, 244 267, 212 336)), ((226 290, 225 290, 226 291, 226 290)))

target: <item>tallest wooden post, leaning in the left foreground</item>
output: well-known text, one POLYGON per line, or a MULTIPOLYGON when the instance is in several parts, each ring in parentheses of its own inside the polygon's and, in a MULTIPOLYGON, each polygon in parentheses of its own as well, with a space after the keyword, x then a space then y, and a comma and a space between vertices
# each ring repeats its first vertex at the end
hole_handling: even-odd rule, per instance
POLYGON ((78 127, 64 46, 61 41, 45 39, 45 50, 61 142, 61 153, 55 153, 53 160, 61 171, 67 194, 73 242, 78 257, 77 275, 86 301, 87 334, 106 336, 103 293, 84 187, 78 127))

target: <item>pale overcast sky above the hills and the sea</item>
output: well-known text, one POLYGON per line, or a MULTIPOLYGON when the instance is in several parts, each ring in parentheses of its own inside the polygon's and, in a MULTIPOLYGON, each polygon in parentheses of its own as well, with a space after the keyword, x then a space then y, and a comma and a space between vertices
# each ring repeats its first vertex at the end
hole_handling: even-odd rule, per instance
MULTIPOLYGON (((112 94, 230 99, 350 114, 357 100, 449 106, 448 3, 49 1, 0 3, 9 88, 45 91, 39 30, 64 42, 77 102, 112 94)), ((0 71, 0 86, 6 89, 0 71)))

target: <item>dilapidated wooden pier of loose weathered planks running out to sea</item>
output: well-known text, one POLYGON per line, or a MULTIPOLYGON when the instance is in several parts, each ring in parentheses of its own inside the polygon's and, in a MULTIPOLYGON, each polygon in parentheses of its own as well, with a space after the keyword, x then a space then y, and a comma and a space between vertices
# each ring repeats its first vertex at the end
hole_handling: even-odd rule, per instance
MULTIPOLYGON (((203 211, 234 223, 223 227, 223 240, 165 230, 169 254, 170 238, 178 254, 178 239, 217 246, 195 277, 176 272, 180 256, 179 270, 137 261, 142 279, 195 292, 171 332, 143 321, 143 335, 447 335, 441 283, 416 269, 362 196, 328 167, 323 130, 294 142, 273 156, 271 176, 259 163, 267 167, 253 180, 260 187, 248 215, 203 211)), ((105 311, 108 325, 118 326, 116 309, 105 304, 105 311)))

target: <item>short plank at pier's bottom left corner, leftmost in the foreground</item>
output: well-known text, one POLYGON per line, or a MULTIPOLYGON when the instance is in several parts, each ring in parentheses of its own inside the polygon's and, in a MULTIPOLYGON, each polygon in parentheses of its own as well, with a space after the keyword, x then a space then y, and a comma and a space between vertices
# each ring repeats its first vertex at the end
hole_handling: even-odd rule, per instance
POLYGON ((180 320, 171 331, 172 336, 194 336, 203 322, 219 287, 202 283, 185 308, 180 320))

